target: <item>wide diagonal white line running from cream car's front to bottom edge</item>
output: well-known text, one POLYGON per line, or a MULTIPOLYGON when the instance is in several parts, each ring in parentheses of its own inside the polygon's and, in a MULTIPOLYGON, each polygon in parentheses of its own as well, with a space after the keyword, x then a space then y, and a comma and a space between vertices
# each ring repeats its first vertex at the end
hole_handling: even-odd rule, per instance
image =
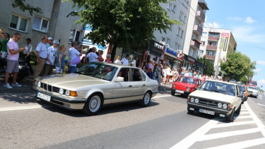
POLYGON ((202 137, 206 132, 212 129, 212 125, 217 124, 221 119, 218 117, 213 118, 208 123, 201 126, 199 129, 194 131, 192 134, 181 140, 179 143, 171 147, 170 149, 188 149, 197 140, 197 138, 202 137))

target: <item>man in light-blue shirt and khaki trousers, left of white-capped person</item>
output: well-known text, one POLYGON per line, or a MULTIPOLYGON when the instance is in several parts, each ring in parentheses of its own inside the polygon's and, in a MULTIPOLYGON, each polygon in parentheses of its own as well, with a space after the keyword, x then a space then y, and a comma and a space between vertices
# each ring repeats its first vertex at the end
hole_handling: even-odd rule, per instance
POLYGON ((33 86, 35 85, 35 78, 40 76, 40 73, 47 59, 47 47, 46 47, 47 40, 48 40, 47 36, 41 37, 41 42, 38 43, 34 51, 34 54, 37 58, 37 66, 36 66, 35 74, 33 76, 33 86))

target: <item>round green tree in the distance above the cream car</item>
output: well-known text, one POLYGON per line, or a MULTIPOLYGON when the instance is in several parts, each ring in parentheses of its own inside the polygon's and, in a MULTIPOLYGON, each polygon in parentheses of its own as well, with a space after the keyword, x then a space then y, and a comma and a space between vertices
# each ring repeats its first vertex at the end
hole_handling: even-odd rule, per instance
POLYGON ((239 81, 243 76, 253 76, 256 69, 256 62, 251 62, 247 55, 238 51, 231 51, 227 53, 227 61, 220 62, 221 70, 225 72, 224 77, 227 80, 235 79, 239 81))

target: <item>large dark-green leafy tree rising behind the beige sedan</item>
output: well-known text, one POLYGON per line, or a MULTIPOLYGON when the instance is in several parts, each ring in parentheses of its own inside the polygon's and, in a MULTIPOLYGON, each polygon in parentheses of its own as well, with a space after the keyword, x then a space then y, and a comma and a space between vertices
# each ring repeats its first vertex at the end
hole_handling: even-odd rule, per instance
POLYGON ((131 47, 145 46, 154 31, 166 32, 170 25, 181 24, 169 19, 167 12, 159 5, 167 0, 64 0, 72 1, 77 10, 69 15, 78 15, 76 23, 90 24, 92 31, 86 37, 93 44, 113 46, 111 59, 116 48, 130 50, 131 47))

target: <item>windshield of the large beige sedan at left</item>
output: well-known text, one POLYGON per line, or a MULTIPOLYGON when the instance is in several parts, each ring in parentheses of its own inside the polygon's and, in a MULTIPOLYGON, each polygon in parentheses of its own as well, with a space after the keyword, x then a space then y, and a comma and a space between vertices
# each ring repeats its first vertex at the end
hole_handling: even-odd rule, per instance
POLYGON ((111 81, 118 68, 104 63, 88 63, 75 73, 111 81))

